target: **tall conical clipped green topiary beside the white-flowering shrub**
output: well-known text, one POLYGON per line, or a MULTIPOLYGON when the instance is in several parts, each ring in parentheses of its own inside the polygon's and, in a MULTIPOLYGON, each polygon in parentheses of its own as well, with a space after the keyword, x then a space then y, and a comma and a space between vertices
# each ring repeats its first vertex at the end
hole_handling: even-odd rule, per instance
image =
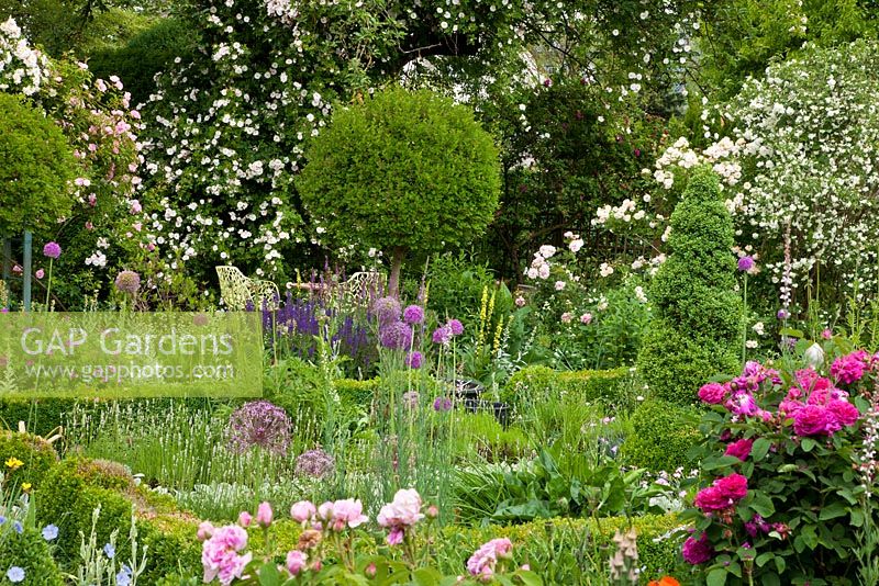
POLYGON ((653 396, 692 405, 706 376, 739 365, 733 221, 713 171, 693 173, 670 225, 671 255, 650 285, 654 319, 637 368, 653 396))

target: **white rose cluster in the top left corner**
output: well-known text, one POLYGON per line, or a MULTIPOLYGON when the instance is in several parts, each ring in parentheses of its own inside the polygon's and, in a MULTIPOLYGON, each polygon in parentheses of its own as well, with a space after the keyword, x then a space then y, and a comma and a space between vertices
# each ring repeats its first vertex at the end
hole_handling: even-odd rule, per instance
POLYGON ((0 91, 33 95, 48 76, 48 59, 33 48, 13 19, 0 23, 0 91))

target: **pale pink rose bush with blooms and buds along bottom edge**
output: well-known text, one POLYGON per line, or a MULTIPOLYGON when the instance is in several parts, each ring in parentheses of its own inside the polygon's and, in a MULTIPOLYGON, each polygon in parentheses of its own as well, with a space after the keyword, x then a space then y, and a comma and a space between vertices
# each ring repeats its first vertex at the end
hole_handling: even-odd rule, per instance
MULTIPOLYGON (((398 491, 391 503, 379 510, 376 518, 385 533, 388 553, 376 554, 356 551, 365 543, 377 540, 369 534, 363 504, 345 498, 315 506, 300 500, 290 508, 290 517, 300 525, 296 546, 288 551, 282 564, 274 559, 271 546, 275 515, 268 503, 262 503, 256 514, 242 511, 238 525, 215 528, 203 521, 198 528, 202 541, 204 583, 218 581, 223 586, 240 583, 260 586, 287 584, 360 584, 381 577, 387 584, 410 584, 419 575, 442 575, 431 567, 430 534, 432 521, 439 515, 434 505, 425 505, 418 491, 398 491), (424 527, 425 539, 415 539, 424 527), (265 548, 262 556, 245 552, 247 528, 262 531, 265 548)), ((275 530, 278 530, 275 523, 275 530)), ((494 539, 480 546, 467 561, 469 578, 448 576, 444 582, 454 584, 483 584, 500 578, 503 583, 542 584, 527 566, 515 570, 512 564, 513 544, 509 539, 494 539), (510 568, 508 571, 508 567, 510 568)), ((419 578, 418 582, 421 583, 419 578)), ((437 582, 438 583, 438 582, 437 582)))

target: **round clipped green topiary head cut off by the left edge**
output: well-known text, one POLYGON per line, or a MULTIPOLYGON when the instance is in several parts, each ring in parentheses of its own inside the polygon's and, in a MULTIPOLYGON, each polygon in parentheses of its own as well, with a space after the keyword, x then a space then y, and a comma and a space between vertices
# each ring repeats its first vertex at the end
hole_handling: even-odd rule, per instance
POLYGON ((70 212, 76 161, 64 134, 24 100, 0 93, 0 226, 42 228, 70 212))

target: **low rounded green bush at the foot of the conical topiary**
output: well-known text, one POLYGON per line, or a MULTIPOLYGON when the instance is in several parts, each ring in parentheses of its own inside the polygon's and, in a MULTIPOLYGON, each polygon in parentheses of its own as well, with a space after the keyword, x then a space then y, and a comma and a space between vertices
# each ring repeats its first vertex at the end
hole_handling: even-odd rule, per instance
POLYGON ((632 416, 632 433, 620 449, 621 459, 653 472, 691 467, 688 451, 701 435, 698 412, 663 401, 645 401, 632 416))

